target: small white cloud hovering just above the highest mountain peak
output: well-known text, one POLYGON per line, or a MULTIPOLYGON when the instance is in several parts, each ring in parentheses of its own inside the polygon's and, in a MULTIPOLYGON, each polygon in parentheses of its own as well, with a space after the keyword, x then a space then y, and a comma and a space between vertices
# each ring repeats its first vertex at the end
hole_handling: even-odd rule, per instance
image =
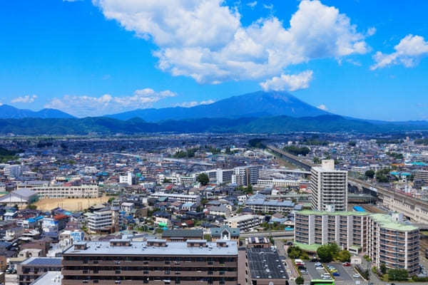
POLYGON ((309 87, 312 80, 312 71, 303 71, 298 74, 275 76, 260 83, 263 90, 288 90, 295 91, 309 87))

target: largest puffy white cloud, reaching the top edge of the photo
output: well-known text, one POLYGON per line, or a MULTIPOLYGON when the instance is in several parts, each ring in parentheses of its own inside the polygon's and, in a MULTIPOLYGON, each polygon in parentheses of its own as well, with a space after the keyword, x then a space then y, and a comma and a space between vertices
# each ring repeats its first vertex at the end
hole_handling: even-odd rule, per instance
POLYGON ((153 41, 158 68, 198 83, 265 80, 315 58, 367 53, 365 35, 345 14, 300 1, 290 24, 269 16, 243 26, 223 0, 93 0, 106 19, 153 41), (289 26, 285 28, 284 26, 289 26))

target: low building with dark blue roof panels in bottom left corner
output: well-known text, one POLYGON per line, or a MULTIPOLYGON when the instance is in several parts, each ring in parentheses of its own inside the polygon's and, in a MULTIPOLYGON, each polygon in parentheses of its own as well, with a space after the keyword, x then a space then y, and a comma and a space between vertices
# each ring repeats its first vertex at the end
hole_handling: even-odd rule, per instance
POLYGON ((19 285, 29 285, 47 271, 61 271, 61 257, 30 257, 18 265, 19 285))

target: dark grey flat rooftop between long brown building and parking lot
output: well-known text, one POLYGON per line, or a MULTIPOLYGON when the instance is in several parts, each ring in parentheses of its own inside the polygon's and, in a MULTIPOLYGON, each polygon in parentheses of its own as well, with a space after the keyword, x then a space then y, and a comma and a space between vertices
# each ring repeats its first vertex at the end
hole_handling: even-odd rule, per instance
POLYGON ((247 257, 251 279, 288 279, 284 264, 275 250, 251 248, 247 250, 247 257))

